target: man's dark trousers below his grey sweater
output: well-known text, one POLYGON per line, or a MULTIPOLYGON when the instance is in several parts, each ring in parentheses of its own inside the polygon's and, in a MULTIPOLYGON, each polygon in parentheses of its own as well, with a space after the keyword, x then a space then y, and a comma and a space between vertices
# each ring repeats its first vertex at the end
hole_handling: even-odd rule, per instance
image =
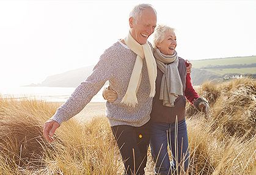
POLYGON ((147 151, 150 140, 150 122, 141 127, 119 125, 111 127, 122 160, 125 174, 145 174, 147 151))

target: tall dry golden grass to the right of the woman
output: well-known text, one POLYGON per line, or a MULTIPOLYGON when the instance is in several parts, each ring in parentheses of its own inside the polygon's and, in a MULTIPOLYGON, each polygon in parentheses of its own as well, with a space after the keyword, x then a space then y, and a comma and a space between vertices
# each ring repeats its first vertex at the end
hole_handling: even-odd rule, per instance
POLYGON ((207 119, 187 105, 191 168, 196 174, 256 174, 256 80, 206 83, 207 119))

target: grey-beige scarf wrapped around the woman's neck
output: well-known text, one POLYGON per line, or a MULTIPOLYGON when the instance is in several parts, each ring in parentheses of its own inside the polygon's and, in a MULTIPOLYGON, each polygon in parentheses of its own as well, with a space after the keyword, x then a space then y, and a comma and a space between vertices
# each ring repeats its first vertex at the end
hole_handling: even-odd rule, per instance
POLYGON ((174 107, 174 101, 178 95, 183 95, 183 86, 178 72, 178 56, 175 51, 173 55, 164 55, 159 49, 154 49, 156 64, 164 74, 161 81, 159 99, 163 105, 174 107))

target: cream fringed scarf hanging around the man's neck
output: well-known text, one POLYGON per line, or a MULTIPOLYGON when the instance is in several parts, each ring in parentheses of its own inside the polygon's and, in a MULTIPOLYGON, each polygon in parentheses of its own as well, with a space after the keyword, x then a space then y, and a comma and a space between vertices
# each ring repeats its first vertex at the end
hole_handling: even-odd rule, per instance
POLYGON ((133 73, 131 73, 128 88, 121 103, 131 107, 135 107, 135 105, 137 104, 136 93, 141 83, 141 70, 143 65, 142 59, 144 59, 145 57, 147 63, 148 78, 150 81, 151 88, 149 95, 150 97, 155 96, 155 80, 157 74, 156 62, 148 43, 145 43, 144 45, 137 43, 137 41, 134 40, 134 38, 131 36, 130 32, 128 36, 125 38, 125 44, 126 46, 128 46, 128 48, 131 49, 131 51, 137 54, 137 57, 133 67, 133 73))

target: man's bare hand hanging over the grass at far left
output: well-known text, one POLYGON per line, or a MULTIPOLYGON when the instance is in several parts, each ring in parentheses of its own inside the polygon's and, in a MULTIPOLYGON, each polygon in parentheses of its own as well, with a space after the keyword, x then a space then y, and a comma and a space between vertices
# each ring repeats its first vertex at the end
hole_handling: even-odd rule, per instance
POLYGON ((57 121, 54 120, 48 120, 45 122, 43 126, 43 136, 46 138, 49 143, 52 143, 54 141, 53 135, 55 130, 60 126, 57 121))

